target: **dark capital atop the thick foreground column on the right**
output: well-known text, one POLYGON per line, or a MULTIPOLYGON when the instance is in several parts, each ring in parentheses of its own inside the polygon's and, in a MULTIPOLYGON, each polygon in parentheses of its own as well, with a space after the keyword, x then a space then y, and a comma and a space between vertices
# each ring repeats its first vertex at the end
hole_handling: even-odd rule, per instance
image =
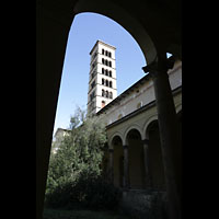
POLYGON ((169 69, 172 69, 175 62, 175 58, 172 56, 168 58, 157 57, 154 61, 142 67, 145 73, 149 72, 152 76, 158 76, 162 72, 166 73, 169 69))

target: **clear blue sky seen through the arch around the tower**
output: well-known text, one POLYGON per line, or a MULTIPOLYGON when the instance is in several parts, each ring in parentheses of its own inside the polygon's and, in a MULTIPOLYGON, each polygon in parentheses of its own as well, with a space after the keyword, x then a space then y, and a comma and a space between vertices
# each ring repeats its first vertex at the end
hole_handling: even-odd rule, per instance
POLYGON ((117 94, 145 76, 146 60, 132 36, 113 20, 96 13, 80 13, 71 25, 65 55, 54 134, 68 128, 77 106, 87 108, 90 50, 101 39, 116 47, 117 94))

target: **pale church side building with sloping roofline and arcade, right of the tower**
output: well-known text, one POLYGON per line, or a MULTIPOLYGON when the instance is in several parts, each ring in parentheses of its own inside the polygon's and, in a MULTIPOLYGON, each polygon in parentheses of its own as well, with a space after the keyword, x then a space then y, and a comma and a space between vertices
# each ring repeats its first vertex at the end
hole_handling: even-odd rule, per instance
MULTIPOLYGON (((182 62, 176 61, 173 69, 169 70, 168 73, 173 90, 175 108, 178 112, 182 105, 182 62)), ((102 88, 100 87, 100 90, 102 88)), ((123 187, 126 184, 125 161, 123 159, 125 159, 124 148, 127 148, 128 158, 126 157, 126 162, 128 162, 129 187, 141 189, 152 186, 153 188, 165 189, 152 78, 146 76, 140 79, 114 102, 110 103, 107 107, 103 108, 100 114, 104 114, 107 125, 108 148, 113 149, 114 185, 123 187), (152 123, 153 126, 151 126, 152 123), (151 129, 151 127, 153 128, 151 129), (119 145, 115 145, 116 138, 122 140, 119 145), (146 139, 149 140, 149 155, 147 157, 149 164, 147 165, 150 169, 150 176, 146 173, 147 159, 145 158, 142 141, 146 139)), ((181 153, 180 150, 176 148, 174 154, 181 153)))

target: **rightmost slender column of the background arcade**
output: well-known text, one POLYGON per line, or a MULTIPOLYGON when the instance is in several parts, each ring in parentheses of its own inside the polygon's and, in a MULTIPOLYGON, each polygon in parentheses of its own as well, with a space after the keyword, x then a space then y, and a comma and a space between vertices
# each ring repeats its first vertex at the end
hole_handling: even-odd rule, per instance
POLYGON ((149 169, 149 139, 142 140, 143 143, 143 163, 145 163, 145 173, 146 173, 146 186, 147 188, 151 187, 151 173, 149 169))

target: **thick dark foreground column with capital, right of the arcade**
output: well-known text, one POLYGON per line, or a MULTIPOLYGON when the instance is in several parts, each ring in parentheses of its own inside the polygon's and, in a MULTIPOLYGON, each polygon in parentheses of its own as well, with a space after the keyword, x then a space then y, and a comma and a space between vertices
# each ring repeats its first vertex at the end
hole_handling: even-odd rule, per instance
POLYGON ((168 76, 173 64, 174 60, 166 59, 163 54, 159 55, 154 62, 143 67, 143 70, 149 71, 154 85, 170 219, 180 219, 181 204, 173 162, 173 148, 180 145, 180 129, 168 76))

